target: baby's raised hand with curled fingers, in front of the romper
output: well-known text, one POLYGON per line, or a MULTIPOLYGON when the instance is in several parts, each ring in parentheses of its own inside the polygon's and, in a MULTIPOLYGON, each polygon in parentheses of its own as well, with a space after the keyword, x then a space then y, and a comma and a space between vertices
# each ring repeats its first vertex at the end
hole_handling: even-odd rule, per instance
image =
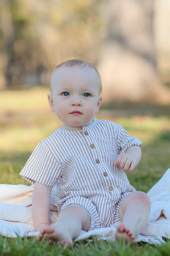
POLYGON ((120 168, 123 169, 124 172, 126 172, 128 169, 128 172, 132 172, 137 164, 137 161, 134 156, 129 155, 128 153, 121 153, 116 158, 114 162, 114 166, 120 166, 120 168))

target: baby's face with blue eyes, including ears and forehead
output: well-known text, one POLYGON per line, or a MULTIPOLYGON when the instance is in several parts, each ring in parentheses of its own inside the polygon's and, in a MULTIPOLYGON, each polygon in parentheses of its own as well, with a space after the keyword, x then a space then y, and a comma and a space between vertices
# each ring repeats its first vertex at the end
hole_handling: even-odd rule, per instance
POLYGON ((99 90, 98 76, 92 68, 61 67, 55 71, 48 100, 63 122, 62 128, 79 130, 92 123, 101 105, 99 90))

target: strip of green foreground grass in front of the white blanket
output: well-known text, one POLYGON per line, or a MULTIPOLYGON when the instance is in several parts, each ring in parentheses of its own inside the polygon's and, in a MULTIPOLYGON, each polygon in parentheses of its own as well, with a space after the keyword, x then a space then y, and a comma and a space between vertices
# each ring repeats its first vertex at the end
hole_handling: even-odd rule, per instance
POLYGON ((98 240, 92 237, 89 241, 75 243, 71 249, 63 248, 60 245, 51 245, 49 241, 42 240, 37 243, 35 238, 15 239, 3 238, 0 236, 1 256, 61 256, 61 255, 81 255, 81 256, 169 256, 170 242, 166 245, 155 246, 151 244, 138 243, 132 247, 124 242, 113 243, 110 240, 98 240))

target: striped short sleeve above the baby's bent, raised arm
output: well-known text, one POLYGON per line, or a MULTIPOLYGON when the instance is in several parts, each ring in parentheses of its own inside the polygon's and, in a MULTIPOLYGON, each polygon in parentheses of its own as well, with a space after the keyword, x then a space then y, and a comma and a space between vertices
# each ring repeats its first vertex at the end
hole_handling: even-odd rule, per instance
POLYGON ((118 154, 125 153, 126 150, 132 146, 142 146, 142 141, 135 138, 134 136, 130 136, 128 132, 121 126, 120 126, 120 133, 117 143, 117 150, 118 154))

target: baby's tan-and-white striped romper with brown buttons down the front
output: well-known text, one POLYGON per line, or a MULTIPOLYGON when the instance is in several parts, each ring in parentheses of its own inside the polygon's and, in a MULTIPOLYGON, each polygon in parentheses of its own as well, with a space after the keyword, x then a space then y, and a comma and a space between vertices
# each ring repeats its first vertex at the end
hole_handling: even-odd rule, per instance
POLYGON ((118 154, 142 142, 118 124, 94 119, 82 130, 58 128, 34 149, 20 175, 34 184, 57 187, 57 210, 66 205, 84 206, 90 228, 110 227, 120 222, 119 205, 135 191, 125 172, 114 166, 118 154))

